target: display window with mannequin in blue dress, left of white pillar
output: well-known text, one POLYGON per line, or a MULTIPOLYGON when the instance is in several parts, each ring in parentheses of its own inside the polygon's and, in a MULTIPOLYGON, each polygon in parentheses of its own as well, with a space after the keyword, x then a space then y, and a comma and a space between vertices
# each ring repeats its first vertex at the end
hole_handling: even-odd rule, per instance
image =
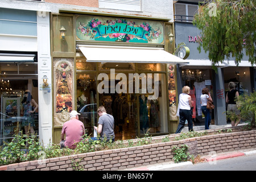
MULTIPOLYGON (((26 110, 28 105, 24 102, 27 98, 26 93, 30 92, 32 98, 38 104, 37 65, 37 63, 0 63, 0 146, 2 146, 3 142, 11 142, 17 127, 19 127, 19 131, 23 131, 23 134, 25 134, 25 127, 30 124, 31 131, 34 131, 36 135, 39 134, 38 109, 36 109, 35 113, 28 115, 28 110, 26 110)), ((34 105, 32 105, 28 109, 34 108, 34 105)))

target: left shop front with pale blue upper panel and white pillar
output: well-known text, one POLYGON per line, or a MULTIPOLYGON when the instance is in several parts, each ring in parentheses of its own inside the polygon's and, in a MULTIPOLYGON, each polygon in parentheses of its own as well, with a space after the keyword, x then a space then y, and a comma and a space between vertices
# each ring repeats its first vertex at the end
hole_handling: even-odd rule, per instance
POLYGON ((0 12, 0 146, 19 131, 30 131, 47 145, 51 143, 51 98, 43 96, 42 78, 51 79, 49 13, 7 8, 0 12))

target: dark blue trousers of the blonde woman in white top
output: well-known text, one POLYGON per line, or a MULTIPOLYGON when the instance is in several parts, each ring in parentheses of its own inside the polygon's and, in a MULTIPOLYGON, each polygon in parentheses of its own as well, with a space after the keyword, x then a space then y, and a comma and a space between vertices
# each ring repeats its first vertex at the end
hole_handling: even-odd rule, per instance
POLYGON ((188 131, 193 131, 192 113, 191 110, 180 109, 180 122, 175 133, 180 133, 185 125, 185 121, 188 121, 188 131))

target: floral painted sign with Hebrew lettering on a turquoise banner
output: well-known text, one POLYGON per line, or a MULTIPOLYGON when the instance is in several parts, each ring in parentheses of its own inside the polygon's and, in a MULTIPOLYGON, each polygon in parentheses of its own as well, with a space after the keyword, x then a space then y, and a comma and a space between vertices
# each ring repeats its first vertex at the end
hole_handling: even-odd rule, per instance
POLYGON ((77 16, 77 40, 163 44, 160 22, 77 16))

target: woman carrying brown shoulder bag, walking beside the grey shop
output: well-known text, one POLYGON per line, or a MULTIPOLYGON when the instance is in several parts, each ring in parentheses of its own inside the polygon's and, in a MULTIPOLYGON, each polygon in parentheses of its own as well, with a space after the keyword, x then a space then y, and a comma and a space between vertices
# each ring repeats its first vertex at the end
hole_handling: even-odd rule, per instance
POLYGON ((210 126, 210 110, 207 109, 207 101, 213 102, 212 97, 210 97, 209 89, 203 88, 201 94, 201 110, 205 115, 204 129, 209 130, 210 126))

